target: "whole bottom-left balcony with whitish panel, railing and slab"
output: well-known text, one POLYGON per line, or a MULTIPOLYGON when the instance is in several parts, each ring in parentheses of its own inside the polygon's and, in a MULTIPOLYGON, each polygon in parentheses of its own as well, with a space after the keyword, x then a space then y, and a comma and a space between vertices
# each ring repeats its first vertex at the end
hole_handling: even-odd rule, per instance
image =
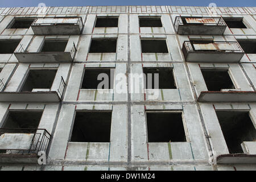
POLYGON ((50 140, 46 129, 0 129, 0 162, 37 163, 50 140))

